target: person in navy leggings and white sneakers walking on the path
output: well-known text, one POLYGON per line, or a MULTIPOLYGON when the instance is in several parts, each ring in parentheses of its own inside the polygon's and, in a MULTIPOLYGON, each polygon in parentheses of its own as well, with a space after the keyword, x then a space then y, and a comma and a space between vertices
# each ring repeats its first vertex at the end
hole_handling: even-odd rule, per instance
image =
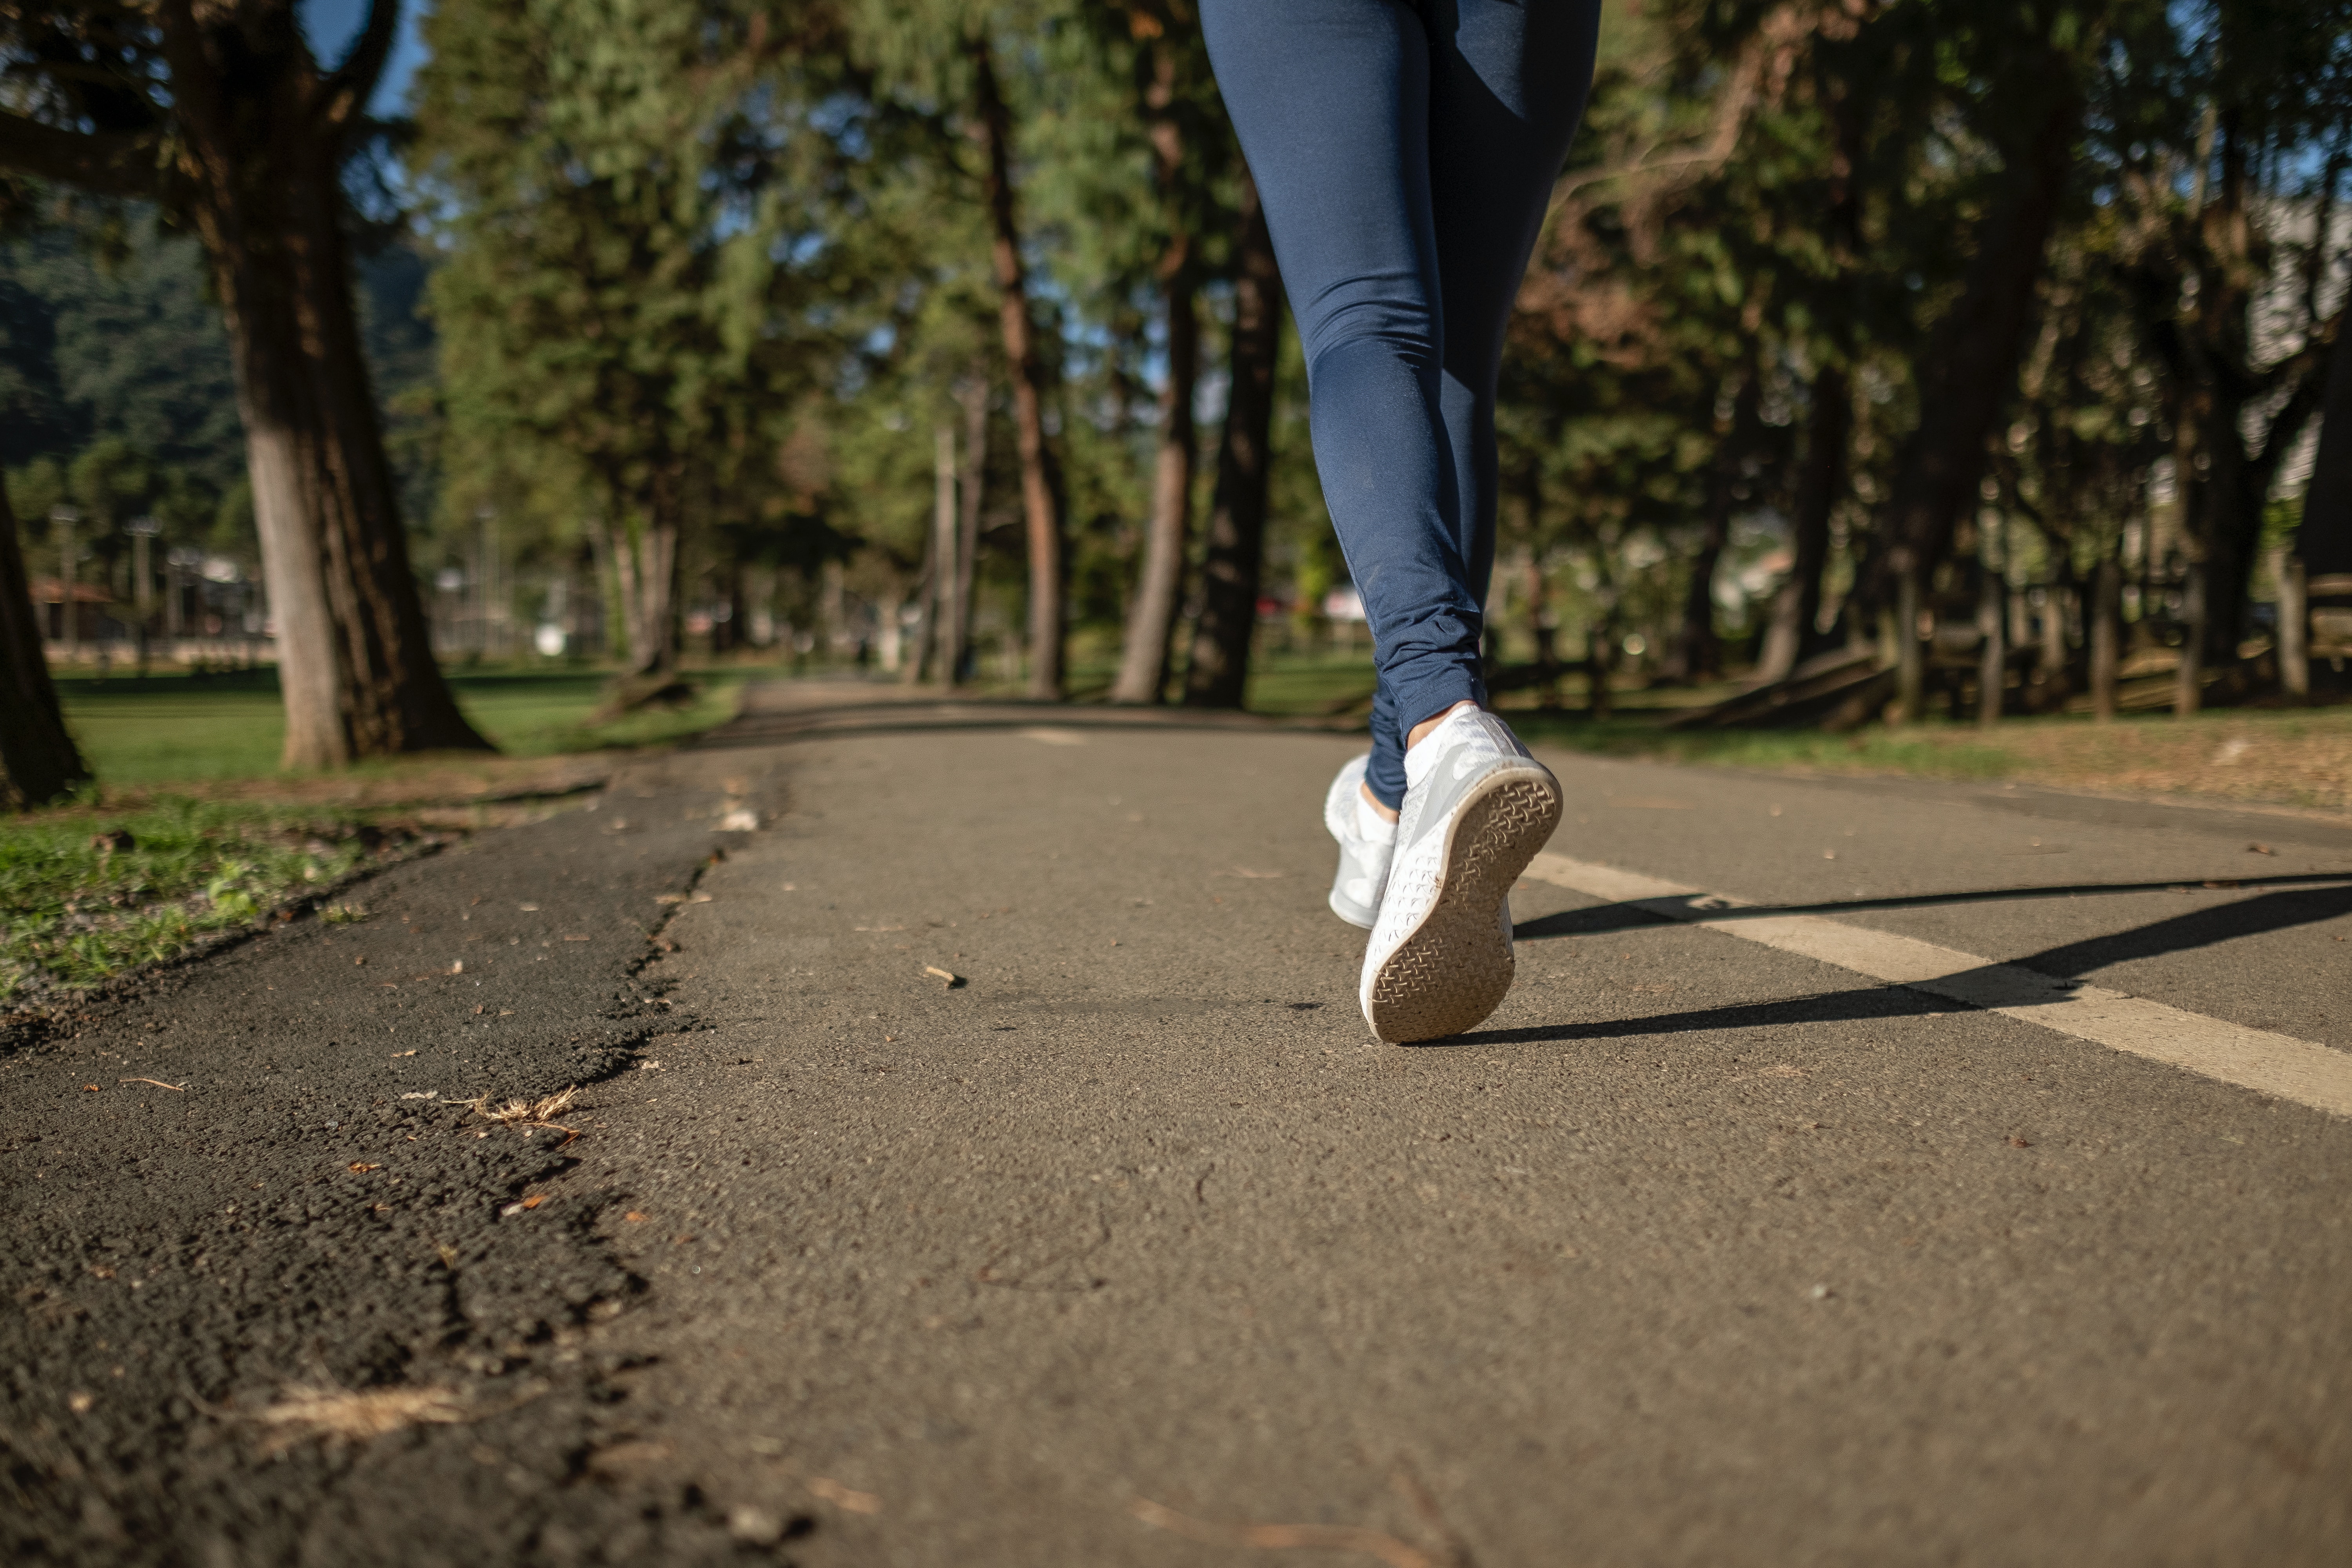
POLYGON ((1305 346, 1315 468, 1371 621, 1371 752, 1324 799, 1388 1041, 1510 990, 1559 780, 1484 712, 1494 386, 1583 118, 1599 0, 1202 0, 1305 346))

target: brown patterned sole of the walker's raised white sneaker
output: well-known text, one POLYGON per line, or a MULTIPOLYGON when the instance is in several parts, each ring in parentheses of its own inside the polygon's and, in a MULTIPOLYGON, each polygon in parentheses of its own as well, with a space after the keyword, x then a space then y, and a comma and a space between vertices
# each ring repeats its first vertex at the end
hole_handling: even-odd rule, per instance
POLYGON ((1559 783, 1508 769, 1454 811, 1430 912, 1371 978, 1367 1020, 1392 1046, 1477 1027, 1517 969, 1496 910, 1559 825, 1559 783))

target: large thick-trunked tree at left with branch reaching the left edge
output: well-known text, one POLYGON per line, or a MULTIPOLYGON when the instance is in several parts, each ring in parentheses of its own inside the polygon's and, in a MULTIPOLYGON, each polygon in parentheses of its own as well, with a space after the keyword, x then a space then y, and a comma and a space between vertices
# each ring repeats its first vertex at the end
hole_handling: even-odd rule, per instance
POLYGON ((487 748, 433 663, 350 299, 343 165, 393 45, 322 68, 294 0, 12 5, 0 165, 155 202, 212 263, 278 621, 287 766, 487 748), (87 127, 87 129, 82 129, 87 127))

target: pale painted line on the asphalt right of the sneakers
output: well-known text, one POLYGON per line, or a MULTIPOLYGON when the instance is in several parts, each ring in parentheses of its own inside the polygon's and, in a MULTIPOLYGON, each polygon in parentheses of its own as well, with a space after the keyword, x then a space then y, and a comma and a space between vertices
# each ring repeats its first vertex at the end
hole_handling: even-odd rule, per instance
POLYGON ((2034 1023, 2058 1034, 2089 1039, 2098 1046, 2169 1063, 2223 1084, 2253 1088, 2352 1117, 2352 1053, 2296 1039, 2246 1030, 2220 1018, 2185 1013, 2145 997, 2126 997, 2098 985, 2058 980, 2053 976, 1994 964, 1971 952, 1938 947, 1893 931, 1846 926, 1818 914, 1755 914, 1745 919, 1710 919, 1722 910, 1745 907, 1736 898, 1658 882, 1613 865, 1541 853, 1526 867, 1536 882, 1550 882, 1588 898, 1628 903, 1649 914, 1722 931, 1748 943, 1795 952, 1837 969, 1851 969, 1872 980, 1907 985, 1931 997, 1947 997, 1990 1013, 2034 1023))

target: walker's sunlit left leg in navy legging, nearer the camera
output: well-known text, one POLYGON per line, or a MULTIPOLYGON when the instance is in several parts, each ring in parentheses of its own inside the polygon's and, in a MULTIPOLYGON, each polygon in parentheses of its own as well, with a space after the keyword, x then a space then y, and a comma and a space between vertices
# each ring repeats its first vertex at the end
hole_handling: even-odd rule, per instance
POLYGON ((1315 468, 1381 668, 1367 785, 1395 809, 1404 731, 1484 696, 1439 386, 1430 33, 1402 0, 1204 0, 1202 26, 1305 348, 1315 468))

